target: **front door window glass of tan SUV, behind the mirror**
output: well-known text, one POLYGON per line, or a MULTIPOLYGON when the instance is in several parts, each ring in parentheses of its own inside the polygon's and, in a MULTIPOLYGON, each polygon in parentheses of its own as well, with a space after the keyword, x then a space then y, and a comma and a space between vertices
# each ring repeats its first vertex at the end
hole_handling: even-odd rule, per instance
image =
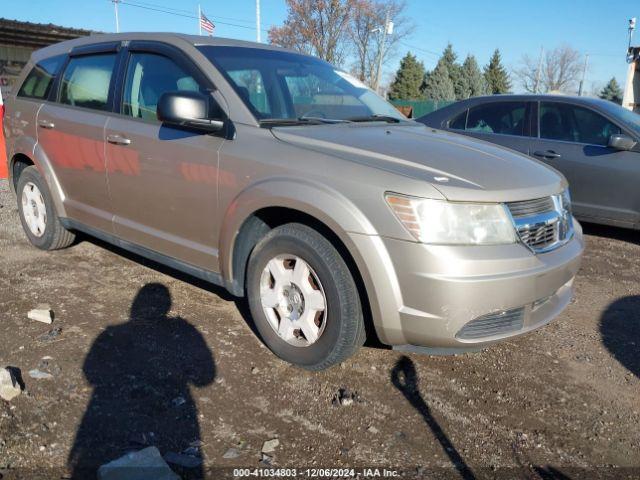
POLYGON ((194 78, 173 60, 153 53, 132 53, 122 100, 122 113, 144 120, 156 120, 158 100, 163 93, 200 91, 194 78))

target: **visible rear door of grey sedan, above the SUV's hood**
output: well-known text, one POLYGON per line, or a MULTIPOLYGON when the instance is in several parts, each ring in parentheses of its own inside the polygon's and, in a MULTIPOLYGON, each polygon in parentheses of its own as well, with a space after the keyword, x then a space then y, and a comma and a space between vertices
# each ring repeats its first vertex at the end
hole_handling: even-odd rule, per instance
POLYGON ((449 129, 528 154, 531 104, 502 101, 476 105, 452 118, 449 129))

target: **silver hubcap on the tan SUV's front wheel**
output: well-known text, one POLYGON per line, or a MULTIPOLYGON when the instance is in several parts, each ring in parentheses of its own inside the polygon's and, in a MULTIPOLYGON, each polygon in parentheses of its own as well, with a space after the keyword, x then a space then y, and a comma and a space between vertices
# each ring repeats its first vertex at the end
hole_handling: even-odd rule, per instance
POLYGON ((278 255, 267 263, 260 278, 260 301, 271 328, 290 345, 313 345, 324 332, 324 289, 300 257, 278 255))

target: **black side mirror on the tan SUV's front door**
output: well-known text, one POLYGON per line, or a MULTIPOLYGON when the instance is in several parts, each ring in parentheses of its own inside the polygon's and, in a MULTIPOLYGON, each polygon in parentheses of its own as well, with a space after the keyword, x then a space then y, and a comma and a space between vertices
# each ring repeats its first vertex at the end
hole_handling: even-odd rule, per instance
POLYGON ((156 115, 168 125, 219 132, 224 128, 224 121, 209 118, 214 103, 210 96, 200 92, 167 92, 158 101, 156 115))

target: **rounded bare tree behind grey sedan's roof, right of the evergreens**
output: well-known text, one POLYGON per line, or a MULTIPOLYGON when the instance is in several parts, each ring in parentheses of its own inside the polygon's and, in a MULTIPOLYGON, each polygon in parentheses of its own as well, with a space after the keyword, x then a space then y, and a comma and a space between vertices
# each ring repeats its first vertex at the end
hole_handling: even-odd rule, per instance
POLYGON ((514 73, 528 92, 573 92, 582 73, 582 55, 568 45, 547 52, 542 62, 524 55, 514 73))

